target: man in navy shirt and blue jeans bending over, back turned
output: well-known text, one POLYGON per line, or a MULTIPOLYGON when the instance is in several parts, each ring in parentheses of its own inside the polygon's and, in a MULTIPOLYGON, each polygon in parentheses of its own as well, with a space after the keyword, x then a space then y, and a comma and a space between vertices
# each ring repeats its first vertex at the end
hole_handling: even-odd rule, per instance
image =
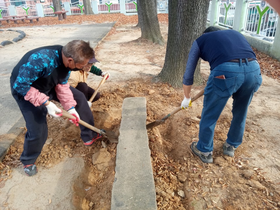
POLYGON ((183 77, 182 109, 191 106, 190 92, 199 58, 209 62, 210 75, 204 88, 199 140, 192 142, 191 149, 202 162, 212 163, 214 129, 228 99, 233 98, 233 118, 223 151, 233 157, 242 143, 248 106, 262 83, 262 76, 255 53, 241 33, 210 26, 190 49, 183 77))

